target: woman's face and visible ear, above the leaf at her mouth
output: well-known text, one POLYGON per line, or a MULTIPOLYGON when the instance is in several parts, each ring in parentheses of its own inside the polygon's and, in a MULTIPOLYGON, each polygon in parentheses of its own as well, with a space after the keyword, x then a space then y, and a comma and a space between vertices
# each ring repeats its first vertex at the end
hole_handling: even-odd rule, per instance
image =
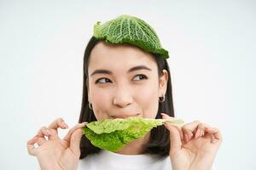
POLYGON ((97 120, 154 118, 166 94, 167 72, 158 76, 153 56, 126 44, 99 42, 90 53, 88 99, 97 120))

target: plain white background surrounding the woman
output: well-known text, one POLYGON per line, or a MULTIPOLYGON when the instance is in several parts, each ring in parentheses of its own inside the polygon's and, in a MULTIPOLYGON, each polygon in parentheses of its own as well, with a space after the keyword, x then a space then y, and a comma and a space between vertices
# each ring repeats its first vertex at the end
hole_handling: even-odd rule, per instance
POLYGON ((170 52, 177 117, 223 133, 215 167, 256 169, 255 8, 242 0, 0 0, 0 169, 38 169, 26 141, 56 117, 78 122, 84 48, 96 21, 120 14, 148 22, 170 52))

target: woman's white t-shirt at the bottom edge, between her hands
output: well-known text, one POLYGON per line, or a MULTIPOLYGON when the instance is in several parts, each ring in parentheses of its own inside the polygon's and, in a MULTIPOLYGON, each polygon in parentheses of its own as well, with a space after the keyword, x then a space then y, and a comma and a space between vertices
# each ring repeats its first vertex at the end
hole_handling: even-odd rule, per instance
POLYGON ((169 156, 122 155, 108 150, 79 160, 79 170, 172 170, 169 156))

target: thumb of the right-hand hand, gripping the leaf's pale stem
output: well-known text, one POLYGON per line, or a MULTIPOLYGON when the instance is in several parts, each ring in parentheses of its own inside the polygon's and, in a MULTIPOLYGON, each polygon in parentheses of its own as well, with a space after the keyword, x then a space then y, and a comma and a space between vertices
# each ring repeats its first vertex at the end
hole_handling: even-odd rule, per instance
MULTIPOLYGON (((167 116, 166 114, 162 114, 164 119, 168 119, 170 116, 167 116)), ((182 136, 183 134, 180 134, 180 131, 178 127, 172 126, 170 122, 165 122, 165 127, 170 132, 170 142, 171 142, 171 150, 170 152, 176 152, 178 150, 181 150, 181 144, 182 144, 182 136)))

